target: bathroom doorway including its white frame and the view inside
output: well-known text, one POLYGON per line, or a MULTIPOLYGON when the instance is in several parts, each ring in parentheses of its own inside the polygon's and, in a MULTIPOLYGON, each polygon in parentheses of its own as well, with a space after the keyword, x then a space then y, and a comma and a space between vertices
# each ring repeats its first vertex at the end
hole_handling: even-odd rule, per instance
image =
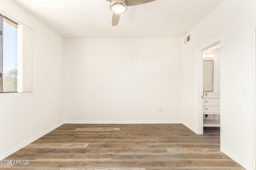
POLYGON ((221 128, 223 124, 222 42, 222 39, 218 39, 206 45, 202 50, 197 51, 197 130, 198 134, 202 135, 204 134, 204 127, 207 129, 219 129, 220 146, 222 146, 223 135, 221 128), (208 64, 204 64, 204 61, 208 64), (207 80, 205 79, 206 72, 208 76, 212 75, 207 80))

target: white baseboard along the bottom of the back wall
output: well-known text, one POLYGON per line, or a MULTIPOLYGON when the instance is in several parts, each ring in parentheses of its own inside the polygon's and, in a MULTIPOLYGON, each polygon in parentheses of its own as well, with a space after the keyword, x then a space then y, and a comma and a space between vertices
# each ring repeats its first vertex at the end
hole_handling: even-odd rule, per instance
POLYGON ((64 121, 65 124, 182 124, 182 121, 64 121))

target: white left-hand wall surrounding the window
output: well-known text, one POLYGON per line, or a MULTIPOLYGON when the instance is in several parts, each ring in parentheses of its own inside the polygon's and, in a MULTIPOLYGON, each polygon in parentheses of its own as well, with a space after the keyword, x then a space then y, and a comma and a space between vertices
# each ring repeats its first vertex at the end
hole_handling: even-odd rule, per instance
POLYGON ((0 10, 36 31, 36 86, 31 93, 0 94, 0 160, 63 121, 64 39, 10 0, 0 10))

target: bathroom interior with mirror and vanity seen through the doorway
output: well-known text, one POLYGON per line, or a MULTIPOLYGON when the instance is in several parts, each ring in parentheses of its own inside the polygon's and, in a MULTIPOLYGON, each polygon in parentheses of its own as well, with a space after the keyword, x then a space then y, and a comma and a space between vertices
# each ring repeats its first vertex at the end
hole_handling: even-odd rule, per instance
POLYGON ((203 51, 203 126, 220 130, 220 44, 203 51))

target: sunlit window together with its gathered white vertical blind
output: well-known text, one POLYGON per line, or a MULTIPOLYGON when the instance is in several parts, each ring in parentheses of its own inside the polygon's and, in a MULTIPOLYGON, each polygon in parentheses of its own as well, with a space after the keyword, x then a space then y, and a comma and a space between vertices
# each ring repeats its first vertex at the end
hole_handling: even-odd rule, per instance
POLYGON ((35 31, 0 14, 0 93, 34 91, 35 31))

